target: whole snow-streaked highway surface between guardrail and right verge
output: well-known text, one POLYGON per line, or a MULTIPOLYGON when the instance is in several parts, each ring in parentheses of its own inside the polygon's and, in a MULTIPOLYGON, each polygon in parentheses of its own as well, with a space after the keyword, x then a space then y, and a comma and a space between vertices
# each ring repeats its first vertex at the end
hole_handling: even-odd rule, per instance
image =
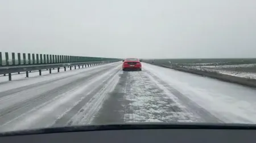
POLYGON ((0 83, 0 131, 127 122, 256 123, 256 89, 147 63, 142 71, 122 71, 121 65, 17 75, 0 83))

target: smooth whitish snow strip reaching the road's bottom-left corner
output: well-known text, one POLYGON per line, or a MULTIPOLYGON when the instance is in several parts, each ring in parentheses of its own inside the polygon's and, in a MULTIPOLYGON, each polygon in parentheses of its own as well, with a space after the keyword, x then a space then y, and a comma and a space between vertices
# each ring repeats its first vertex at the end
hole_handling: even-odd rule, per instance
POLYGON ((82 83, 77 88, 69 90, 64 94, 54 97, 52 100, 44 102, 40 106, 36 106, 30 111, 17 116, 8 123, 1 125, 0 131, 13 131, 17 129, 43 128, 52 126, 57 119, 65 115, 70 109, 77 105, 86 95, 83 93, 90 92, 96 85, 102 83, 102 80, 113 71, 120 69, 116 67, 103 74, 90 79, 86 83, 82 83))

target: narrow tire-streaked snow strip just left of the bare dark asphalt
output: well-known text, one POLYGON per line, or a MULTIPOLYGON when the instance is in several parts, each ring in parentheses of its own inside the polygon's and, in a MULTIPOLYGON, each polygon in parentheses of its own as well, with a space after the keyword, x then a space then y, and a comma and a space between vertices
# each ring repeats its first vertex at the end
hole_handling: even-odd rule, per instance
POLYGON ((82 122, 82 124, 89 124, 92 122, 94 115, 100 109, 99 106, 101 105, 101 102, 103 102, 106 96, 108 96, 108 92, 112 90, 111 86, 116 85, 118 72, 120 72, 120 70, 115 71, 100 85, 87 93, 86 97, 82 99, 82 101, 65 113, 64 116, 57 119, 53 126, 59 127, 63 125, 80 124, 80 122, 82 122))

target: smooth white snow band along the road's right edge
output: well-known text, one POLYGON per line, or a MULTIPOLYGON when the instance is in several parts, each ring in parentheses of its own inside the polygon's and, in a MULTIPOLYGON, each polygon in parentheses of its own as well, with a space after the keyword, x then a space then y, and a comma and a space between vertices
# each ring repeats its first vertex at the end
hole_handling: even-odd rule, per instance
POLYGON ((256 89, 144 63, 144 68, 228 123, 256 123, 256 89))

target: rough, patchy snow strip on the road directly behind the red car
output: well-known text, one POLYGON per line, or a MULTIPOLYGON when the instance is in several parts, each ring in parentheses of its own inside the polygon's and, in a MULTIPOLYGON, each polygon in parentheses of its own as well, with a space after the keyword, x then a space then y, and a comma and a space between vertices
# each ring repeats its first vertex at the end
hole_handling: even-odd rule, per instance
POLYGON ((125 122, 195 122, 197 119, 150 79, 145 71, 129 72, 124 98, 125 122))

